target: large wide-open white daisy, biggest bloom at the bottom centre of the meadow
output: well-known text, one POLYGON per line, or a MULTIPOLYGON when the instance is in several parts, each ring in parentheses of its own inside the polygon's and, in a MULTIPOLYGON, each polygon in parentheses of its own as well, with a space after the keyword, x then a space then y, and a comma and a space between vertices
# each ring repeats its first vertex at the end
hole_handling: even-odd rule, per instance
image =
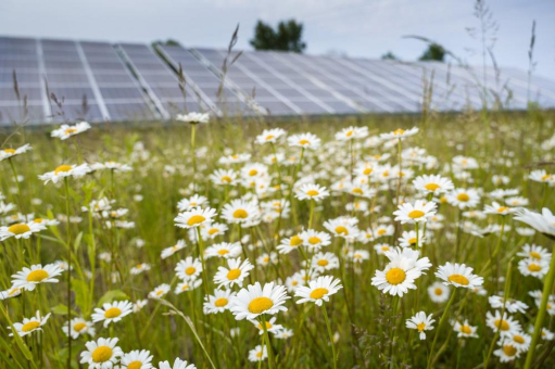
POLYGON ((261 314, 276 315, 287 311, 283 304, 288 298, 290 297, 283 285, 270 282, 261 287, 261 283, 256 282, 237 293, 237 297, 231 301, 230 310, 237 320, 253 320, 261 314))

